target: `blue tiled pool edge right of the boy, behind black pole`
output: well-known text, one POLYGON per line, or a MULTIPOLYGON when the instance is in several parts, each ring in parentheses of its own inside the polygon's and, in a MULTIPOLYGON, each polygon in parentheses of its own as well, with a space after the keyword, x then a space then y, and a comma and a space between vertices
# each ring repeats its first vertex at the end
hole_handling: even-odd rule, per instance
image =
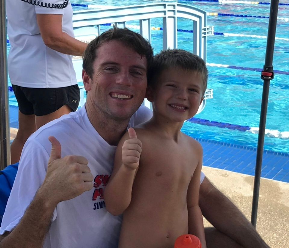
MULTIPOLYGON (((196 139, 203 146, 203 165, 254 176, 256 148, 221 141, 196 139)), ((261 176, 289 182, 289 153, 264 150, 261 176)))

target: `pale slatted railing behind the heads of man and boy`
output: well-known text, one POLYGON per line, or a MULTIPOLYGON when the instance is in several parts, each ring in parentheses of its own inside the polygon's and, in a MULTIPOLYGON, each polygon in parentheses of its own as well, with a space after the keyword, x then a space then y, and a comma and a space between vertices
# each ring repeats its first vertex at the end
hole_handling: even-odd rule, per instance
MULTIPOLYGON (((206 39, 208 35, 213 35, 212 26, 207 25, 207 14, 199 8, 178 3, 155 3, 147 5, 122 6, 122 7, 100 7, 74 11, 73 28, 75 38, 89 42, 101 33, 101 26, 107 23, 117 27, 135 28, 139 33, 151 43, 151 19, 162 18, 162 49, 177 48, 177 18, 182 17, 193 21, 192 29, 192 52, 201 57, 206 62, 206 39), (139 25, 127 24, 129 21, 137 21, 139 25)), ((110 28, 110 27, 108 27, 110 28)), ((159 28, 160 30, 160 28, 159 28)), ((74 68, 77 75, 81 66, 81 58, 74 58, 74 68)), ((81 81, 81 78, 78 78, 81 81)), ((85 91, 81 88, 80 106, 85 103, 85 91)), ((206 100, 213 97, 213 90, 207 89, 204 101, 199 108, 201 112, 206 100)), ((151 104, 145 100, 144 105, 151 108, 151 104)))

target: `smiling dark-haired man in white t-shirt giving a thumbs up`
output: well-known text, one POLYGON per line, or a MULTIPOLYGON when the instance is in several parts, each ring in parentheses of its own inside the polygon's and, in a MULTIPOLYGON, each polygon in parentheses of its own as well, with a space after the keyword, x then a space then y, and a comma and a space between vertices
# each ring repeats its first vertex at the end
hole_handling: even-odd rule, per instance
MULTIPOLYGON (((86 105, 27 140, 0 228, 0 248, 117 247, 121 217, 106 211, 103 190, 118 141, 128 127, 151 117, 139 108, 151 62, 149 43, 127 29, 111 29, 89 44, 83 55, 86 105)), ((199 204, 220 231, 206 230, 207 247, 241 247, 232 239, 243 247, 268 247, 206 178, 199 204)))

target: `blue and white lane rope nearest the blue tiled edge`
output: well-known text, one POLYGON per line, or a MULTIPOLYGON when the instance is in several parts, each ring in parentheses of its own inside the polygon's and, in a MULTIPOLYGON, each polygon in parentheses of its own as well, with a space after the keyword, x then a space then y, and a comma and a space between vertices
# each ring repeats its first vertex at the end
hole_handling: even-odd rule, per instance
MULTIPOLYGON (((250 133, 256 133, 256 134, 259 133, 259 127, 249 127, 249 126, 230 124, 226 122, 209 121, 209 120, 200 119, 196 117, 190 118, 187 121, 196 123, 196 124, 206 125, 206 126, 228 128, 232 130, 239 130, 242 132, 250 132, 250 133)), ((279 132, 278 130, 265 129, 265 136, 271 137, 271 138, 289 139, 289 132, 288 131, 279 132)))

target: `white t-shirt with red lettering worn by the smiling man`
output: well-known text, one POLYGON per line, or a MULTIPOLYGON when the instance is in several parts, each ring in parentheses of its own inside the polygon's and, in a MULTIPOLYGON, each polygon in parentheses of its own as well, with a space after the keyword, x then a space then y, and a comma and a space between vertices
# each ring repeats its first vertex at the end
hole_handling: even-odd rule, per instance
MULTIPOLYGON (((152 112, 141 106, 131 117, 128 127, 143 123, 151 116, 152 112)), ((80 155, 87 158, 94 176, 94 187, 57 205, 43 247, 117 247, 121 216, 108 213, 103 200, 103 191, 112 173, 116 146, 109 145, 97 133, 84 106, 41 127, 25 143, 0 234, 15 228, 42 184, 51 152, 49 136, 55 136, 60 142, 62 157, 80 155)))

